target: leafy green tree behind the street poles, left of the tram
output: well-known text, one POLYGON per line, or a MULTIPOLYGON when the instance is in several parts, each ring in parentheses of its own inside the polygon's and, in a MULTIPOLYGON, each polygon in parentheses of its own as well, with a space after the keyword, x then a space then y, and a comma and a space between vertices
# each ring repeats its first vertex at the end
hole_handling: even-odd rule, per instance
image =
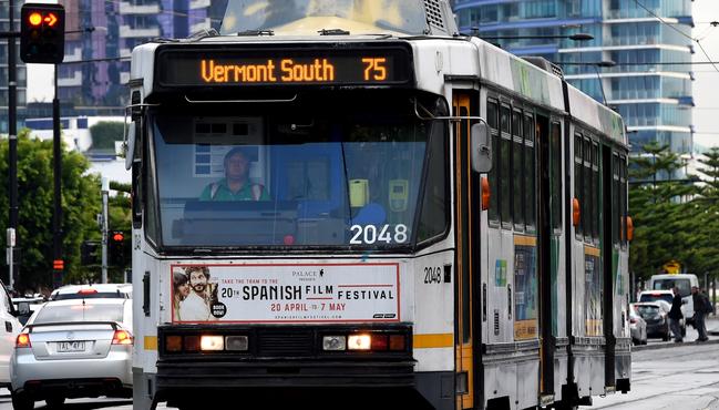
MULTIPOLYGON (((8 141, 0 142, 0 157, 8 157, 8 141)), ((18 192, 20 276, 18 289, 50 286, 52 283, 52 141, 32 139, 28 130, 18 136, 18 192)), ((101 208, 100 178, 88 175, 88 160, 79 153, 63 151, 62 156, 62 248, 65 281, 88 274, 80 264, 80 245, 96 235, 95 216, 101 208)), ((8 162, 0 162, 0 180, 8 181, 8 162)), ((0 228, 8 227, 8 184, 0 185, 0 228)), ((6 237, 0 243, 6 247, 6 237)), ((6 278, 7 278, 6 274, 6 278)))

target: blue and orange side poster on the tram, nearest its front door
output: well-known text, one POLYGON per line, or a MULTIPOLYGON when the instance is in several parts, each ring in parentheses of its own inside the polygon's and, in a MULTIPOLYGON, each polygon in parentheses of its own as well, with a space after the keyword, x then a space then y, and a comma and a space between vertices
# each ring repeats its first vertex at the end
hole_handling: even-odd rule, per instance
POLYGON ((536 338, 537 327, 537 273, 536 247, 514 247, 514 339, 536 338))

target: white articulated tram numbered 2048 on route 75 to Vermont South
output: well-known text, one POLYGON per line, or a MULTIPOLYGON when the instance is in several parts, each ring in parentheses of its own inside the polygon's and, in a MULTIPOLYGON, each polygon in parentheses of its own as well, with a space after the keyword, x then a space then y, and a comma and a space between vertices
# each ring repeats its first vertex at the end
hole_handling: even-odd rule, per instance
POLYGON ((444 0, 229 0, 129 85, 135 409, 630 389, 625 126, 558 66, 444 0))

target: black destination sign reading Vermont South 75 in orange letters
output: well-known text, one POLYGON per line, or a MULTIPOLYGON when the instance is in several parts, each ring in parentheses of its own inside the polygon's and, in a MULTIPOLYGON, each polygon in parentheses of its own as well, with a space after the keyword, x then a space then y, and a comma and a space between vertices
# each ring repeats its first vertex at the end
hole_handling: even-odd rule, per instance
POLYGON ((161 49, 161 88, 402 85, 412 79, 404 47, 352 49, 161 49))

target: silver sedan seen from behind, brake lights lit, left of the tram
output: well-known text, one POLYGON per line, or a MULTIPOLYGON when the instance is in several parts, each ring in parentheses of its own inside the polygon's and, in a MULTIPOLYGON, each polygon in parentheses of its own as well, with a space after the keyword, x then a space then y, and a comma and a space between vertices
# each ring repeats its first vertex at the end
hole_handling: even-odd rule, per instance
POLYGON ((18 335, 10 360, 12 406, 38 400, 132 396, 132 299, 49 301, 18 335))

